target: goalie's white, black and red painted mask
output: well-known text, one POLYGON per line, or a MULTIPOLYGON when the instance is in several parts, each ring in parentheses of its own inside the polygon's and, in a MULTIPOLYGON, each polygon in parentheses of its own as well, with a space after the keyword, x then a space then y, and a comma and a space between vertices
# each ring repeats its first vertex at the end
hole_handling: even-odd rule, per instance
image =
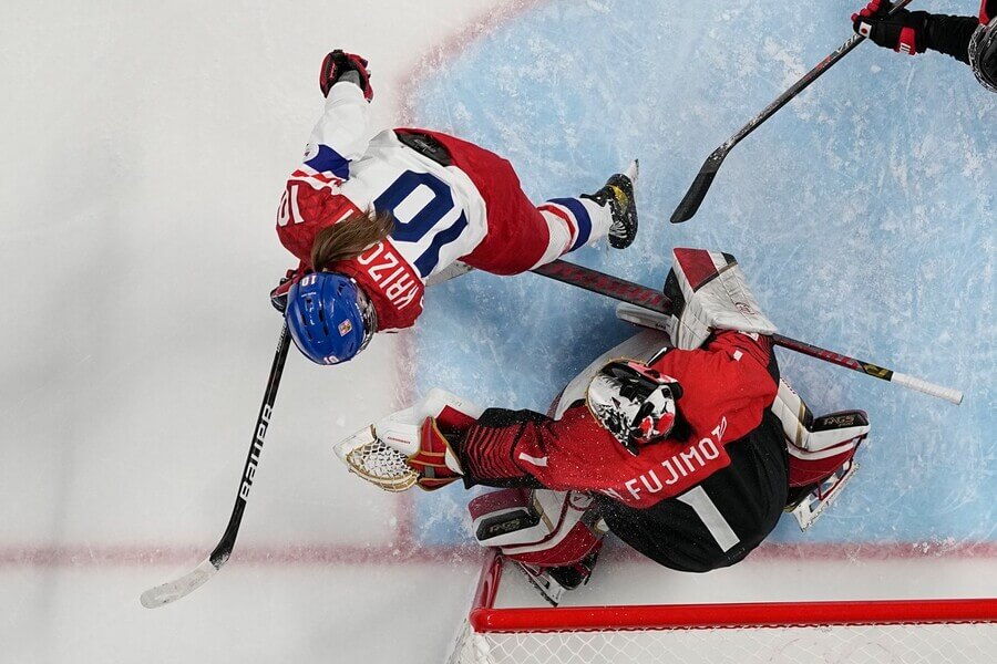
POLYGON ((614 360, 588 384, 588 409, 637 456, 640 445, 668 436, 675 425, 678 381, 634 360, 614 360))

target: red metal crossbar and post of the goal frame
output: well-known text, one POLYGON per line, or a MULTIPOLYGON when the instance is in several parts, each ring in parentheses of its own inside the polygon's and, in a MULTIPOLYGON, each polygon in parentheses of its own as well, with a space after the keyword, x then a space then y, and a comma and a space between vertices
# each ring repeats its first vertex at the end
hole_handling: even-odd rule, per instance
POLYGON ((467 618, 475 633, 997 623, 997 598, 496 609, 501 578, 490 554, 467 618))

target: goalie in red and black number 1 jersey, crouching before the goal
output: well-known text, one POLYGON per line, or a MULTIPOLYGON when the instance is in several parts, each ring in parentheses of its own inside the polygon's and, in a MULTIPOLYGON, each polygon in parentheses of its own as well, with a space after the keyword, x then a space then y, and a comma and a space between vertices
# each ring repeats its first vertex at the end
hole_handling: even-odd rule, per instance
POLYGON ((868 422, 814 418, 780 380, 775 328, 729 255, 676 249, 666 294, 669 334, 646 330, 604 354, 549 416, 436 390, 337 453, 386 488, 503 487, 471 502, 475 536, 554 603, 588 579, 607 531, 676 570, 733 564, 784 510, 812 522, 851 476, 868 422), (376 450, 395 455, 401 484, 378 481, 392 473, 376 450))

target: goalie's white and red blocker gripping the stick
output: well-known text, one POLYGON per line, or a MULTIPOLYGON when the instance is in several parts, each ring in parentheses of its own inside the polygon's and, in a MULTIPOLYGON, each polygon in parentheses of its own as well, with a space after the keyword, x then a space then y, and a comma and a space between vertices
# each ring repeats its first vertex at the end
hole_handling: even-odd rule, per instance
POLYGON ((705 249, 677 248, 674 253, 665 294, 675 304, 668 335, 676 347, 698 349, 713 330, 775 332, 734 257, 705 249))

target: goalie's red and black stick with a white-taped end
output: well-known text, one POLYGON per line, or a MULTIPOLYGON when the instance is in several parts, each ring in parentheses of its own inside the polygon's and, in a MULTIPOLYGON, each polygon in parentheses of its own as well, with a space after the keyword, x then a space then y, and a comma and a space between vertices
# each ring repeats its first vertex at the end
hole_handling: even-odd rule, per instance
MULTIPOLYGON (((664 293, 652 288, 627 281, 626 279, 593 270, 592 268, 586 268, 564 260, 555 260, 545 266, 535 268, 533 271, 549 279, 583 288, 600 295, 607 295, 621 302, 628 302, 660 313, 671 313, 671 300, 664 293)), ((959 404, 963 401, 963 393, 958 390, 943 387, 942 385, 936 385, 922 378, 915 378, 891 369, 878 366, 877 364, 865 362, 863 360, 856 360, 855 357, 850 357, 802 341, 796 341, 795 339, 790 339, 782 334, 773 334, 772 342, 784 349, 810 355, 811 357, 816 357, 818 360, 823 360, 824 362, 830 362, 839 366, 844 366, 845 369, 863 373, 867 376, 873 376, 874 378, 896 383, 931 396, 944 398, 954 404, 959 404)))

